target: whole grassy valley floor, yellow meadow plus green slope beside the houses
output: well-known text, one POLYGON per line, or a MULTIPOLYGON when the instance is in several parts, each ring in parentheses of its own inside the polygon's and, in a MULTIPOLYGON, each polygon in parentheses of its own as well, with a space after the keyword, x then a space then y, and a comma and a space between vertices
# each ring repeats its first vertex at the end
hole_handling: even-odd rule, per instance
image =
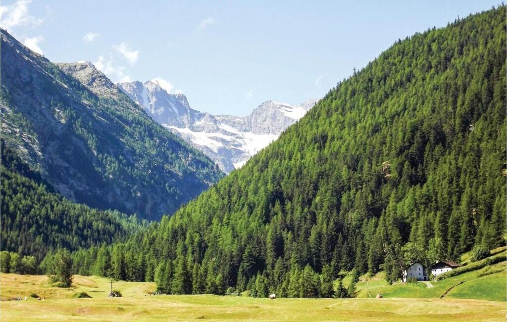
MULTIPOLYGON (((497 249, 492 254, 505 252, 497 249)), ((462 257, 469 262, 469 256, 462 257)), ((44 275, 0 274, 0 319, 30 320, 334 320, 505 321, 507 262, 429 283, 389 285, 383 272, 363 275, 355 299, 259 299, 247 296, 147 296, 155 283, 114 282, 122 298, 107 298, 110 280, 75 275, 71 288, 49 285, 44 275), (460 282, 463 282, 460 284, 460 282), (458 285, 459 284, 459 285, 458 285), (457 286, 456 286, 457 285, 457 286), (451 287, 444 299, 440 296, 451 287), (74 296, 85 292, 91 298, 74 296), (36 294, 44 301, 21 296, 36 294), (384 298, 374 299, 377 294, 384 298)), ((344 285, 350 283, 350 275, 344 285)))

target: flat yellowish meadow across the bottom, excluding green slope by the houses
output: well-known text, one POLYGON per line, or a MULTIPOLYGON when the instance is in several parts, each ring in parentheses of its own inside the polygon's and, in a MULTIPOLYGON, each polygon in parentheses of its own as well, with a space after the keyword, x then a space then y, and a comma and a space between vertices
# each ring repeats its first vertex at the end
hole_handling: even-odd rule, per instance
MULTIPOLYGON (((494 274, 493 274, 494 275, 494 274)), ((487 276, 493 276, 487 275, 487 276)), ((486 277, 487 277, 486 276, 486 277)), ((484 283, 491 280, 484 279, 484 283)), ((373 283, 373 282, 372 282, 373 283)), ((424 286, 424 285, 421 285, 424 286)), ((419 285, 410 287, 419 288, 419 285)), ((478 284, 479 287, 481 287, 478 284)), ((259 299, 214 295, 145 296, 153 283, 115 282, 122 298, 107 298, 109 280, 74 278, 73 287, 48 285, 46 276, 0 274, 2 321, 67 320, 338 320, 338 321, 504 321, 505 302, 469 299, 259 299), (92 298, 75 299, 78 292, 92 298), (45 301, 9 301, 35 293, 45 301)), ((425 287, 425 286, 424 286, 425 287)), ((484 286, 487 288, 487 285, 484 286)), ((397 291, 400 293, 400 291, 397 291)), ((456 297, 466 297, 463 289, 456 297)), ((451 293, 450 293, 451 294, 451 293)))

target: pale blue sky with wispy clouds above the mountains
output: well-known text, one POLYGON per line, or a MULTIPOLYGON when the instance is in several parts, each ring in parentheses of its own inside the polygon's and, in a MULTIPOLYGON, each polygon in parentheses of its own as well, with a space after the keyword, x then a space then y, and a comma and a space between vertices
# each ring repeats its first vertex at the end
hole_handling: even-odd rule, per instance
POLYGON ((1 24, 53 62, 161 78, 194 109, 243 116, 322 97, 416 31, 496 1, 2 1, 1 24))

